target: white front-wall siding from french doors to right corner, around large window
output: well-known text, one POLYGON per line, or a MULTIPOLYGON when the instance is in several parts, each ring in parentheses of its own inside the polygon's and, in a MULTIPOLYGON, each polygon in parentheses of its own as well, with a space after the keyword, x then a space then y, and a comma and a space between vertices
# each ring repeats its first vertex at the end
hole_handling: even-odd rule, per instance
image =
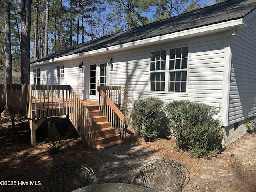
MULTIPOLYGON (((221 107, 224 66, 224 36, 217 34, 184 42, 173 42, 133 51, 119 52, 113 56, 113 69, 109 70, 108 84, 128 84, 130 99, 156 97, 170 102, 190 100, 221 107), (189 43, 189 44, 188 44, 189 43), (170 47, 189 46, 187 94, 150 92, 150 53, 170 47)), ((168 77, 167 77, 168 78, 168 77)), ((130 107, 132 104, 130 104, 130 107)))

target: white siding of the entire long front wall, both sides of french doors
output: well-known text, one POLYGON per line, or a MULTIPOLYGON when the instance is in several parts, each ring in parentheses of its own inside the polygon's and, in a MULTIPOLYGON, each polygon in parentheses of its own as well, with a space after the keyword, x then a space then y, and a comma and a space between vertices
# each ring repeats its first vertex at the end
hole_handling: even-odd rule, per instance
MULTIPOLYGON (((222 86, 224 67, 224 33, 203 36, 177 42, 166 42, 154 46, 120 50, 110 54, 92 56, 84 59, 56 62, 40 66, 41 84, 68 84, 81 99, 86 99, 88 86, 88 62, 113 58, 108 68, 108 85, 127 84, 130 87, 130 99, 155 97, 170 102, 172 100, 190 100, 204 102, 213 106, 222 106, 222 86), (150 92, 150 53, 156 50, 188 46, 188 68, 186 92, 150 92), (83 68, 78 64, 84 62, 83 68), (56 66, 64 65, 64 77, 54 77, 56 66), (82 92, 84 90, 84 93, 82 92)), ((36 68, 36 66, 31 67, 36 68)), ((169 78, 166 76, 166 78, 169 78)), ((132 102, 129 108, 132 107, 132 102)))

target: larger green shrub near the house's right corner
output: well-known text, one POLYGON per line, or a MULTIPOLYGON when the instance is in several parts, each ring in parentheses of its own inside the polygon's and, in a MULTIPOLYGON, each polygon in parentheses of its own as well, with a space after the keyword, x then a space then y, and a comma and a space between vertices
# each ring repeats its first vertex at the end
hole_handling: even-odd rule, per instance
POLYGON ((215 118, 219 108, 181 100, 166 104, 166 112, 178 148, 187 150, 193 158, 211 158, 220 152, 222 127, 215 118))

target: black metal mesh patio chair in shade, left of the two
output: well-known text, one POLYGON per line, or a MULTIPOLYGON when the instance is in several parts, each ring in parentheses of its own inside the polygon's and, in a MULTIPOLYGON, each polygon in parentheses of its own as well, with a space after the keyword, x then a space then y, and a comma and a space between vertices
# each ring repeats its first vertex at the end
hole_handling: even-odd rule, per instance
POLYGON ((46 192, 70 192, 72 190, 96 184, 92 168, 85 164, 64 162, 50 167, 44 176, 46 192))

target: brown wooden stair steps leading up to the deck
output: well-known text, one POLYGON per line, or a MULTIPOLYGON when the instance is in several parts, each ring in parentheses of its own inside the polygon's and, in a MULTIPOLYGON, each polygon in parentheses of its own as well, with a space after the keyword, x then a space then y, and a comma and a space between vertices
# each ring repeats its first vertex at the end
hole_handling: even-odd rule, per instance
POLYGON ((102 116, 98 105, 86 106, 86 108, 97 122, 97 149, 124 142, 121 140, 120 134, 116 133, 116 129, 111 127, 110 122, 106 120, 106 116, 102 116))

